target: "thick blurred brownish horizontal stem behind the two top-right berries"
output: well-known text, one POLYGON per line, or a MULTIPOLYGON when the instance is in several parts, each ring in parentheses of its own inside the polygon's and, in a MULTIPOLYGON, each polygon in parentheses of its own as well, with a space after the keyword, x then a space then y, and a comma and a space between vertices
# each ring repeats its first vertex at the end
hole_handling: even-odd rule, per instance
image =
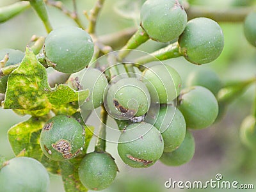
POLYGON ((240 8, 211 8, 210 6, 190 6, 186 12, 188 20, 196 17, 208 17, 216 22, 243 22, 248 13, 255 10, 255 7, 240 8))

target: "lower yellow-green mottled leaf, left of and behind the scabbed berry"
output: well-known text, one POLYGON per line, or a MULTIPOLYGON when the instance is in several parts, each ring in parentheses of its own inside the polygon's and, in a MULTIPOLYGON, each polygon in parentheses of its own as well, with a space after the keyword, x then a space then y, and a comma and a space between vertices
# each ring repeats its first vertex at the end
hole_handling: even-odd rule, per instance
POLYGON ((22 156, 33 157, 40 161, 49 172, 60 173, 58 163, 44 156, 40 148, 40 132, 46 121, 45 117, 31 117, 20 122, 9 129, 8 139, 15 156, 20 156, 22 152, 22 156))

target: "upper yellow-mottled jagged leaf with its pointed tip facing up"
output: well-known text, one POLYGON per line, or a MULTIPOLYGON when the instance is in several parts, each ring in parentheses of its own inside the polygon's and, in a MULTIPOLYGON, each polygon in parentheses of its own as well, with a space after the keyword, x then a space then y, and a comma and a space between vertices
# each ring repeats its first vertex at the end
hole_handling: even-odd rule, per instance
POLYGON ((89 90, 75 91, 65 84, 51 88, 45 68, 33 51, 27 48, 20 66, 8 77, 3 108, 15 109, 20 114, 43 116, 52 109, 76 102, 78 95, 79 100, 83 101, 89 93, 89 90))

